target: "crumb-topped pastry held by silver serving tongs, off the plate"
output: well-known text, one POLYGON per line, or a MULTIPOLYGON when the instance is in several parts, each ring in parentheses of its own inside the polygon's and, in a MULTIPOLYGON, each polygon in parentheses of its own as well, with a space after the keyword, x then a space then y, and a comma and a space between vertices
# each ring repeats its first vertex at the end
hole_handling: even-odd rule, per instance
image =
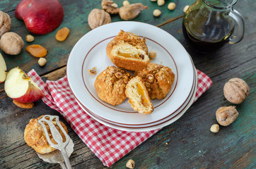
MULTIPOLYGON (((47 154, 55 150, 52 146, 48 144, 45 137, 44 129, 42 128, 42 125, 38 123, 38 120, 40 120, 40 118, 42 118, 43 116, 44 115, 41 115, 39 118, 31 119, 28 125, 25 127, 24 131, 25 142, 28 144, 28 146, 31 146, 33 149, 35 149, 35 151, 37 151, 37 153, 39 154, 47 154)), ((54 125, 56 124, 56 122, 54 121, 53 123, 54 125)), ((59 121, 59 123, 61 123, 66 133, 68 133, 66 125, 64 125, 64 123, 62 123, 61 121, 59 121)), ((49 126, 46 126, 48 133, 50 133, 49 126)), ((55 126, 57 127, 57 130, 59 130, 59 132, 61 133, 62 138, 65 138, 64 134, 61 132, 61 129, 57 126, 57 124, 55 126)), ((54 144, 56 144, 56 142, 54 142, 54 139, 52 138, 52 135, 50 135, 50 139, 54 144)))

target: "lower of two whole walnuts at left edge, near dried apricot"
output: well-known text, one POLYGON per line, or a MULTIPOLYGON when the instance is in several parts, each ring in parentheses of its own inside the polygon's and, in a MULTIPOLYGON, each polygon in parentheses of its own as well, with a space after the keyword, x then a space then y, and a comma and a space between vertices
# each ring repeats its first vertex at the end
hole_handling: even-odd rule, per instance
POLYGON ((0 48, 6 54, 17 55, 23 49, 23 39, 14 32, 6 32, 0 39, 0 48))

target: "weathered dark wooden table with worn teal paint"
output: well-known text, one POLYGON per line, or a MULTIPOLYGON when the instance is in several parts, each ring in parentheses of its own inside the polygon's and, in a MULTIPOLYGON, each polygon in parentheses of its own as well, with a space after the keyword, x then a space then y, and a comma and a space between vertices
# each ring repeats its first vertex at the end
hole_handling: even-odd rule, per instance
MULTIPOLYGON (((21 20, 15 18, 18 0, 1 0, 0 10, 11 16, 11 31, 21 35, 29 32, 21 20)), ((37 58, 25 51, 21 54, 4 56, 8 70, 19 66, 25 72, 31 69, 43 80, 57 80, 66 74, 66 61, 69 53, 83 35, 89 32, 88 14, 93 8, 101 8, 99 1, 60 0, 64 8, 64 20, 61 27, 69 27, 69 37, 64 42, 57 42, 57 30, 47 35, 35 35, 33 44, 41 44, 48 49, 45 58, 47 64, 40 67, 37 58)), ((138 0, 129 0, 136 3, 138 0)), ((141 1, 149 9, 142 11, 136 21, 158 25, 173 35, 190 53, 197 69, 206 73, 214 82, 185 115, 175 123, 164 127, 129 152, 110 168, 125 168, 132 158, 136 168, 256 168, 255 156, 255 70, 256 70, 256 1, 238 0, 234 8, 245 18, 245 36, 238 44, 226 44, 218 51, 199 54, 185 41, 182 35, 182 9, 193 3, 192 0, 174 0, 176 8, 169 11, 166 1, 164 6, 156 2, 141 1), (153 10, 160 9, 162 15, 153 17, 153 10), (240 77, 250 86, 250 94, 242 104, 237 105, 240 113, 237 120, 228 127, 220 127, 216 134, 210 132, 216 123, 215 112, 221 106, 230 106, 223 96, 223 85, 231 77, 240 77)), ((122 1, 116 1, 122 6, 122 1)), ((112 22, 120 21, 119 15, 112 16, 112 22)), ((60 168, 58 164, 43 162, 35 151, 23 140, 25 125, 30 118, 42 114, 59 115, 42 101, 35 102, 31 109, 18 108, 12 99, 6 96, 4 84, 0 84, 0 168, 60 168)), ((62 117, 61 117, 62 118, 62 117)), ((64 118, 61 119, 62 121, 64 118)), ((74 153, 70 157, 73 168, 107 168, 88 149, 78 135, 67 124, 69 134, 74 141, 74 153)))

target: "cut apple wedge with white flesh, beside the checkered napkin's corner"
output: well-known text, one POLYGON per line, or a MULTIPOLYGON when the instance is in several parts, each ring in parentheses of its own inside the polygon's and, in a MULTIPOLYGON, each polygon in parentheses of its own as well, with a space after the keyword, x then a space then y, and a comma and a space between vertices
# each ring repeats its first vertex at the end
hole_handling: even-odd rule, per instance
POLYGON ((21 103, 30 103, 42 99, 42 90, 20 68, 10 70, 4 83, 7 96, 21 103))

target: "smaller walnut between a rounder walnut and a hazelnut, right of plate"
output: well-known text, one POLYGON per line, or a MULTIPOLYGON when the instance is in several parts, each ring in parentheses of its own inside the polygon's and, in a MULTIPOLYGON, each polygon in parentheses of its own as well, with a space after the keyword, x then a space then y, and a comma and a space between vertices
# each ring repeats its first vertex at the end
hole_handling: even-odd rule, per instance
POLYGON ((238 111, 236 106, 224 106, 216 111, 216 120, 220 125, 227 126, 235 121, 238 117, 238 111))

